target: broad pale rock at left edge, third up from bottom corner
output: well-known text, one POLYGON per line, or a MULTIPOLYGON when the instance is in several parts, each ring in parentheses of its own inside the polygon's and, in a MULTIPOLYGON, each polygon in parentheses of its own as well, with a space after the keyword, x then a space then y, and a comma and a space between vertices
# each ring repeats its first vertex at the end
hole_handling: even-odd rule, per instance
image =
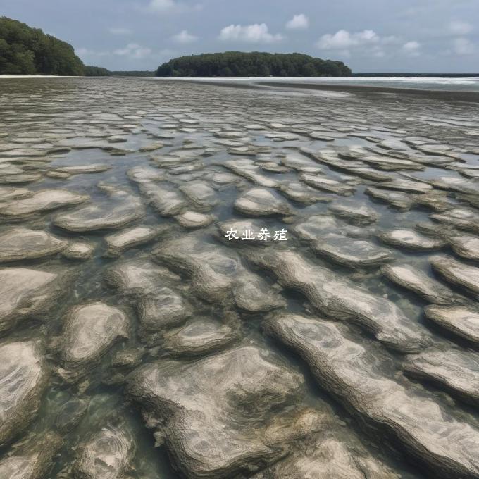
POLYGON ((20 320, 49 311, 65 292, 68 278, 27 268, 0 269, 0 333, 20 320))

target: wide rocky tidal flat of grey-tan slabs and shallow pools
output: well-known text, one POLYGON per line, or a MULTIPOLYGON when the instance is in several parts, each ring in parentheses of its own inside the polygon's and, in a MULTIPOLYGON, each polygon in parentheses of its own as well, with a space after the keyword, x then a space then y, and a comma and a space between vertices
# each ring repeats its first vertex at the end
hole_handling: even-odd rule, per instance
POLYGON ((0 80, 0 478, 478 478, 479 94, 237 86, 0 80))

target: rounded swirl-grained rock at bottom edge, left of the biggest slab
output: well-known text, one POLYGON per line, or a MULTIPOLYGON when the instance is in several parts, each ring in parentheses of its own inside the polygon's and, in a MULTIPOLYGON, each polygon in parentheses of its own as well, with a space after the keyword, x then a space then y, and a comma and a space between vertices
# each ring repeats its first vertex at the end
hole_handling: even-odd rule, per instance
POLYGON ((94 434, 77 459, 75 479, 121 479, 131 467, 136 444, 127 425, 108 425, 94 434))

